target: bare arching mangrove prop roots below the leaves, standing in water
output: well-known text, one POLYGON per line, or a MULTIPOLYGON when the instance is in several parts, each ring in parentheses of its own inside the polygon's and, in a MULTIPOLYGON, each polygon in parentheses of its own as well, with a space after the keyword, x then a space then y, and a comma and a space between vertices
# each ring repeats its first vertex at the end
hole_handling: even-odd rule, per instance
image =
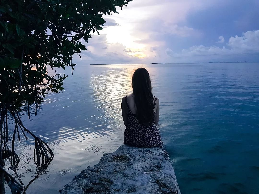
MULTIPOLYGON (((19 184, 4 168, 5 165, 4 159, 8 158, 12 167, 14 169, 17 168, 18 163, 20 162, 19 156, 16 154, 14 150, 15 146, 15 137, 16 133, 19 141, 21 142, 20 132, 23 133, 24 137, 27 139, 25 132, 29 133, 32 137, 34 137, 35 147, 34 147, 34 162, 38 167, 47 167, 49 162, 53 159, 54 154, 45 141, 41 140, 39 137, 35 136, 31 131, 29 131, 21 121, 19 114, 15 108, 15 105, 4 101, 0 104, 1 111, 1 121, 0 121, 0 129, 1 129, 1 151, 0 151, 0 178, 1 178, 1 193, 4 193, 4 179, 8 183, 10 190, 12 193, 20 193, 23 190, 23 186, 19 184), (8 116, 11 116, 15 121, 15 128, 12 137, 11 150, 8 146, 8 116), (3 146, 2 146, 3 145, 3 146), (46 147, 45 147, 46 146, 46 147), (50 156, 49 156, 50 155, 50 156)), ((37 107, 36 107, 37 109, 37 107)))

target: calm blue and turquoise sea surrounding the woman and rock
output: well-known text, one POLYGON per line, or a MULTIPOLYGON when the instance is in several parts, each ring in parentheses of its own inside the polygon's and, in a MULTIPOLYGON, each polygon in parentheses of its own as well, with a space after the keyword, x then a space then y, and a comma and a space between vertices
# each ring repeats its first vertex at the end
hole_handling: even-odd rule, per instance
POLYGON ((33 180, 26 193, 59 193, 123 144, 121 98, 139 67, 149 71, 160 100, 159 129, 181 193, 259 193, 259 63, 77 65, 74 76, 68 70, 65 90, 47 95, 38 116, 29 121, 21 112, 55 154, 40 171, 33 139, 17 144, 22 161, 15 171, 7 167, 25 185, 33 180))

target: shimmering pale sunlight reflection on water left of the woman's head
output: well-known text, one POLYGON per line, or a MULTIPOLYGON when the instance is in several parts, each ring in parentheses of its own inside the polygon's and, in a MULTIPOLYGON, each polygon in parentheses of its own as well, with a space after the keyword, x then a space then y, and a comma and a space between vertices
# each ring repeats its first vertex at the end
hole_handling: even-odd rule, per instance
POLYGON ((125 65, 122 68, 121 65, 111 65, 107 69, 103 66, 94 67, 89 81, 96 98, 95 107, 104 109, 106 116, 121 119, 119 99, 132 93, 132 74, 135 69, 143 66, 145 65, 125 65))

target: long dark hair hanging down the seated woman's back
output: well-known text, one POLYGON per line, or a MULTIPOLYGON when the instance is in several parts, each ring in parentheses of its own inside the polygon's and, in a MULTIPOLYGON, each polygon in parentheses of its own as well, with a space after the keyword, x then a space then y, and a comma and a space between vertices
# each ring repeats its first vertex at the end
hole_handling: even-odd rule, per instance
POLYGON ((154 121, 154 97, 149 73, 144 68, 137 69, 132 76, 132 89, 136 105, 136 116, 143 124, 154 121))

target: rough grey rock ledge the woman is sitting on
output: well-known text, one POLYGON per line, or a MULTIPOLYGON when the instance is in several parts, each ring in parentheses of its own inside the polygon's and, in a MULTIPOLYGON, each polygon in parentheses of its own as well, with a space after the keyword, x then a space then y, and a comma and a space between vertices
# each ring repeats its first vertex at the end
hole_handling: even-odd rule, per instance
POLYGON ((105 153, 64 186, 61 194, 174 193, 180 194, 174 169, 162 148, 120 146, 105 153))

